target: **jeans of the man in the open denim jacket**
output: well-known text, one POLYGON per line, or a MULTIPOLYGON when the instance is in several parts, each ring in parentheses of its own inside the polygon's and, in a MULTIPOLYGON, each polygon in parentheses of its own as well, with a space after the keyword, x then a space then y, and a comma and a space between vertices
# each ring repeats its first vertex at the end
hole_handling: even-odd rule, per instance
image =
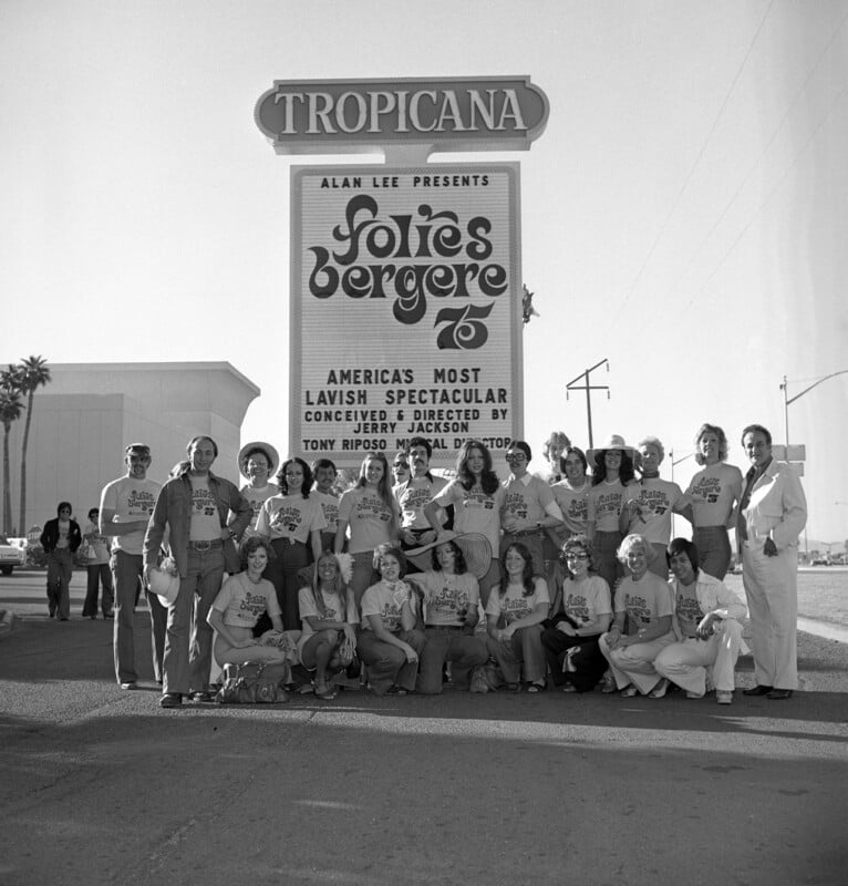
POLYGON ((165 636, 165 692, 206 692, 209 689, 213 629, 207 622, 224 578, 224 550, 187 552, 187 575, 168 607, 165 636), (193 620, 194 618, 194 620, 193 620))

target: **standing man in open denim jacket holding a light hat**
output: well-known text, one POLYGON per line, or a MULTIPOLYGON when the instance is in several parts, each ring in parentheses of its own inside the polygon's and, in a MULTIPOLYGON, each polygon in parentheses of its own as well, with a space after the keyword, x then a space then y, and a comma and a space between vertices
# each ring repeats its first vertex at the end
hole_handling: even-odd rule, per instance
POLYGON ((252 513, 238 488, 209 470, 218 455, 211 437, 194 437, 186 451, 188 464, 162 487, 144 537, 145 578, 149 581, 167 526, 168 547, 180 579, 177 597, 168 607, 163 708, 178 708, 184 696, 211 701, 213 630, 206 616, 225 570, 238 571, 235 539, 245 532, 252 513), (235 515, 231 522, 230 514, 235 515))

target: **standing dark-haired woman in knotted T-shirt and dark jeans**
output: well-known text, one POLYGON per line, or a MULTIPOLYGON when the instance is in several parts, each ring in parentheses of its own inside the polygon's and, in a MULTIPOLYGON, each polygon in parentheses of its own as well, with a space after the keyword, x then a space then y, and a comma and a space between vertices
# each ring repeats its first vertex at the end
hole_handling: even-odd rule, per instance
POLYGON ((310 497, 312 470, 302 459, 287 459, 277 474, 279 495, 268 498, 256 521, 256 534, 270 542, 272 557, 265 577, 277 591, 286 630, 300 629, 298 573, 321 553, 327 526, 318 498, 310 497))

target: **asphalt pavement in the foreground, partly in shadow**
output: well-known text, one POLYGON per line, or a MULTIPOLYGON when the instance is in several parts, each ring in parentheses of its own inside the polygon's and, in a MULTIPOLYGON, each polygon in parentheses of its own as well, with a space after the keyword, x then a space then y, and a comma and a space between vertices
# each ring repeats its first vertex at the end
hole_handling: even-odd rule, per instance
POLYGON ((165 711, 146 637, 143 689, 122 692, 111 622, 79 618, 76 593, 49 620, 21 579, 0 609, 41 612, 0 639, 2 884, 848 882, 844 643, 800 635, 788 702, 345 692, 165 711))

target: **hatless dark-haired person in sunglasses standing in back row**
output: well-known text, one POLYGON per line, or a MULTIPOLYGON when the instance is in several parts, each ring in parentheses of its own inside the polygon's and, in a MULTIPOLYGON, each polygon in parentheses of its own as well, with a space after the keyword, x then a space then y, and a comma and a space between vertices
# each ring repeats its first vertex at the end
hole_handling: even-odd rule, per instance
POLYGON ((532 459, 528 443, 515 440, 506 453, 509 478, 504 482, 500 505, 500 553, 520 542, 532 557, 534 575, 545 575, 542 539, 545 529, 562 523, 562 512, 554 499, 550 486, 527 470, 532 459))

